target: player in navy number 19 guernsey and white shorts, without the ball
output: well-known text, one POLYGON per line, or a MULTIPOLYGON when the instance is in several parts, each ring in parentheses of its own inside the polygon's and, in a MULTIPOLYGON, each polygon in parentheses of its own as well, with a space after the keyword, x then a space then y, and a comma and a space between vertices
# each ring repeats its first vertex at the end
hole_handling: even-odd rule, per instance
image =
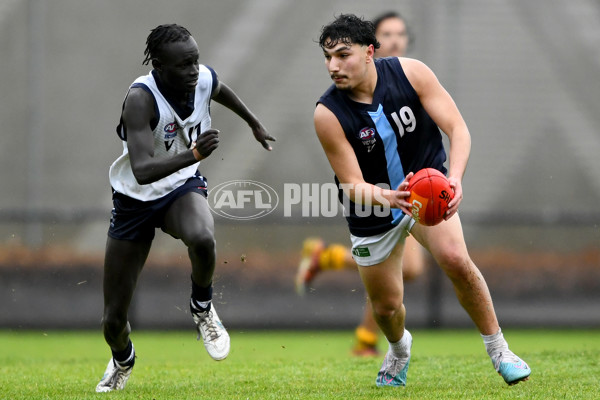
POLYGON ((422 62, 375 59, 379 42, 373 23, 356 15, 342 14, 324 26, 319 45, 333 84, 317 102, 315 131, 340 200, 350 200, 352 255, 388 341, 376 385, 406 386, 412 336, 405 327, 402 256, 409 234, 452 282, 498 374, 509 385, 527 380, 531 369, 508 347, 457 214, 471 135, 454 100, 422 62), (441 133, 450 143, 448 170, 441 133), (415 224, 407 201, 408 182, 423 168, 447 172, 454 192, 444 220, 435 226, 415 224))

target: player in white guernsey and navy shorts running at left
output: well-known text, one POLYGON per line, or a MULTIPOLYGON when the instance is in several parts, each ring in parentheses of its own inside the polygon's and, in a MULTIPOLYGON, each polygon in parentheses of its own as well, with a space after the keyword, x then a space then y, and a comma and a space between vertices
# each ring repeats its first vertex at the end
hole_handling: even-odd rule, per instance
POLYGON ((274 140, 242 100, 213 69, 199 63, 190 32, 160 25, 146 41, 148 75, 136 79, 123 102, 117 133, 123 153, 110 167, 113 211, 104 261, 104 338, 112 357, 97 392, 125 388, 135 363, 128 309, 155 229, 188 248, 191 261, 190 311, 209 355, 222 360, 230 339, 212 300, 215 270, 214 221, 200 161, 217 148, 210 102, 231 109, 249 125, 256 140, 271 150, 274 140))

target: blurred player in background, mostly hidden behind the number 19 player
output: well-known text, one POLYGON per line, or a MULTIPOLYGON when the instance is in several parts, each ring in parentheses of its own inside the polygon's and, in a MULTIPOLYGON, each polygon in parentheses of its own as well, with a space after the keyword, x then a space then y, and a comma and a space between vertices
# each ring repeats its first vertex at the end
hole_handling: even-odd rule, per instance
MULTIPOLYGON (((409 35, 406 20, 397 12, 386 12, 373 20, 375 37, 380 47, 375 50, 376 58, 402 57, 406 54, 413 39, 409 35)), ((412 237, 406 238, 402 257, 402 274, 405 282, 410 282, 425 270, 423 247, 412 237)), ((357 269, 350 248, 339 243, 325 244, 319 237, 310 237, 302 244, 302 258, 296 274, 296 291, 303 294, 306 286, 322 271, 357 269)), ((357 356, 377 356, 379 327, 373 318, 369 299, 365 303, 360 324, 355 329, 355 344, 352 354, 357 356)))

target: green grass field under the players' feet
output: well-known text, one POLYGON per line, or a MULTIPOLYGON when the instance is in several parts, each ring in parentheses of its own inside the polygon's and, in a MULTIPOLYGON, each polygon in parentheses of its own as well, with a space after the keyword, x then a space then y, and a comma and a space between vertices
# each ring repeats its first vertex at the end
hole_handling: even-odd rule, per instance
POLYGON ((382 358, 350 356, 352 332, 231 332, 215 362, 195 332, 134 332, 124 391, 94 392, 110 357, 100 332, 0 331, 2 399, 597 399, 600 330, 505 331, 531 366, 508 386, 474 330, 413 333, 406 388, 377 388, 382 358))

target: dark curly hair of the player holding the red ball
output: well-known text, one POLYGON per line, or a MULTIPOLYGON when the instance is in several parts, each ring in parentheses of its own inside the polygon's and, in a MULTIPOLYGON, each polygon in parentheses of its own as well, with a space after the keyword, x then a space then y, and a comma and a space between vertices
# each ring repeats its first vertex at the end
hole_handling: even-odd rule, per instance
POLYGON ((321 28, 319 37, 321 48, 331 48, 340 42, 345 45, 368 46, 372 44, 375 49, 379 48, 373 23, 354 14, 341 14, 329 25, 321 28))

